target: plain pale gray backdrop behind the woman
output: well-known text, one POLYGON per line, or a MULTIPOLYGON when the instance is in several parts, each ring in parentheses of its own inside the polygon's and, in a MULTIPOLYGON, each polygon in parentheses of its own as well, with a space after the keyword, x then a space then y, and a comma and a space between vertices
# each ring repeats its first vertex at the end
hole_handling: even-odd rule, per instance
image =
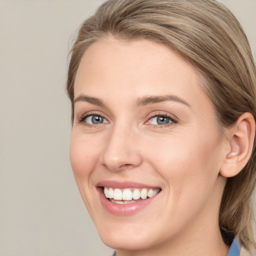
MULTIPOLYGON (((65 94, 73 35, 101 2, 0 0, 0 256, 111 255, 73 178, 65 94)), ((221 2, 255 56, 256 0, 221 2)))

